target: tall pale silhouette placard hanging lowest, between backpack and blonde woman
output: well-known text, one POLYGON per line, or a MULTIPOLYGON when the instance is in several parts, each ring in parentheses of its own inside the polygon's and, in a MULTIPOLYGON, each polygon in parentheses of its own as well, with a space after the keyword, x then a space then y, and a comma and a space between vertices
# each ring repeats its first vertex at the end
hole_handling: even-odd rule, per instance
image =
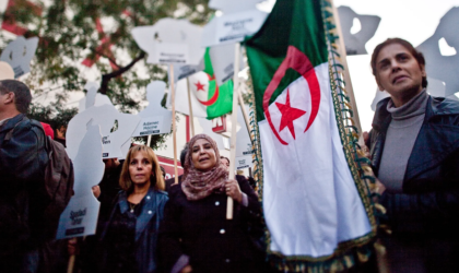
POLYGON ((90 121, 81 149, 72 159, 75 194, 60 216, 57 239, 93 235, 96 232, 101 203, 91 188, 98 185, 104 176, 101 139, 99 126, 93 126, 90 121))

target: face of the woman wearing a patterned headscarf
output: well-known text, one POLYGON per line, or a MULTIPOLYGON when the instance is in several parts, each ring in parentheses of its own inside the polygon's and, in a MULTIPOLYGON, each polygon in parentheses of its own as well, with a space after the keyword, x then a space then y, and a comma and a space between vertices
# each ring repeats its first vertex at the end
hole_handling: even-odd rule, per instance
POLYGON ((215 151, 205 139, 199 139, 191 147, 191 161, 196 169, 208 170, 215 166, 215 151))

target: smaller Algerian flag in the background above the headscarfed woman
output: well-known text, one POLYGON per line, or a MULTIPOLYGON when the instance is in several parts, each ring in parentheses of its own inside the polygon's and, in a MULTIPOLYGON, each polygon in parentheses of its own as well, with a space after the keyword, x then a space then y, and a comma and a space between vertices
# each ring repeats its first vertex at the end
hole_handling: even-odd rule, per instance
MULTIPOLYGON (((221 86, 216 84, 209 48, 204 55, 204 67, 203 71, 188 76, 191 107, 195 117, 213 119, 233 110, 233 80, 223 83, 221 86)), ((177 111, 189 115, 186 80, 177 83, 175 103, 177 111)))

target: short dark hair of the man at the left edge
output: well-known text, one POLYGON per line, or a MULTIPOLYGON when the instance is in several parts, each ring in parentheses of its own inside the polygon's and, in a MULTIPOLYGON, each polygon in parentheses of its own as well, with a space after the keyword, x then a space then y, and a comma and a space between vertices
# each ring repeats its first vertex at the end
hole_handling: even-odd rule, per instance
POLYGON ((14 105, 17 111, 26 114, 32 102, 31 90, 24 83, 16 80, 0 81, 0 93, 14 93, 14 105))

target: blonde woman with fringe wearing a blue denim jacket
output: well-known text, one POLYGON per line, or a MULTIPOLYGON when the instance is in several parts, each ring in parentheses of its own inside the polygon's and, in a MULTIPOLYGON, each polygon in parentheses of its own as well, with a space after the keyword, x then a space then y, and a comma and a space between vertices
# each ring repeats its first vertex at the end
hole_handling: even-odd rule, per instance
POLYGON ((157 234, 168 198, 151 147, 129 150, 119 185, 123 191, 99 237, 98 272, 157 272, 157 234))

